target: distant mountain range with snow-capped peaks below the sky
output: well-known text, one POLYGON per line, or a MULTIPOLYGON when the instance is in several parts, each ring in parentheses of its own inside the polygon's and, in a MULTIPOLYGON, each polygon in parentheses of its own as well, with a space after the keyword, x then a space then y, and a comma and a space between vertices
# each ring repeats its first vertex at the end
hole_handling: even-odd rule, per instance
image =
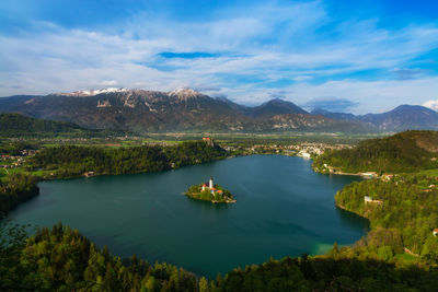
POLYGON ((106 89, 15 95, 0 98, 0 113, 74 122, 91 129, 219 132, 377 132, 438 129, 438 113, 403 105, 384 114, 355 116, 315 109, 283 100, 250 107, 192 89, 171 92, 106 89))

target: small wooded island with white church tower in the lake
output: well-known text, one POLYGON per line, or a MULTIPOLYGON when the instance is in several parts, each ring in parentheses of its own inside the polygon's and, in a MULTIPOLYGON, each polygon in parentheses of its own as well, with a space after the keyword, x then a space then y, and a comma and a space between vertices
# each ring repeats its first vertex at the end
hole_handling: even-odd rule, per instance
POLYGON ((230 191, 214 183, 212 176, 208 183, 191 186, 185 195, 196 200, 210 201, 214 203, 235 202, 230 191))

